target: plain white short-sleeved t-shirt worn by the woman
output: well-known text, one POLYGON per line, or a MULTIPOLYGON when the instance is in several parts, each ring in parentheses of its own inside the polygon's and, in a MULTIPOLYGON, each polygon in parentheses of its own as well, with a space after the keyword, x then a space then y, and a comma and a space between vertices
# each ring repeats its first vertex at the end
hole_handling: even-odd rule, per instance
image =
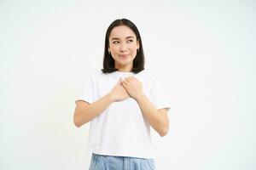
MULTIPOLYGON (((143 82, 143 93, 155 109, 170 110, 160 83, 145 70, 139 73, 91 71, 85 78, 76 100, 84 100, 91 104, 110 93, 119 81, 119 77, 129 76, 143 82)), ((91 120, 86 151, 107 156, 154 158, 151 149, 150 124, 143 118, 143 113, 135 99, 128 98, 113 102, 102 114, 91 120)))

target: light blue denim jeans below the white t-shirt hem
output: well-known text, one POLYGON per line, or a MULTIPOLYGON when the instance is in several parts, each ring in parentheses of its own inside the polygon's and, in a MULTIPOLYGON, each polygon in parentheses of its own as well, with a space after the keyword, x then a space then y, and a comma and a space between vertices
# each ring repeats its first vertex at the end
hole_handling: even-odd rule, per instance
POLYGON ((92 153, 89 170, 155 170, 154 159, 92 153))

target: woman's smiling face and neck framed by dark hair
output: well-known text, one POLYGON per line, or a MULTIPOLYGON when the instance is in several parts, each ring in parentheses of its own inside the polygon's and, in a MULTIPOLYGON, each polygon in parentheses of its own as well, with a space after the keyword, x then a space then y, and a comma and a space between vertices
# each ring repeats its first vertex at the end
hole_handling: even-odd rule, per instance
POLYGON ((110 32, 108 53, 110 52, 115 60, 115 68, 132 68, 138 48, 137 37, 128 26, 116 26, 110 32))

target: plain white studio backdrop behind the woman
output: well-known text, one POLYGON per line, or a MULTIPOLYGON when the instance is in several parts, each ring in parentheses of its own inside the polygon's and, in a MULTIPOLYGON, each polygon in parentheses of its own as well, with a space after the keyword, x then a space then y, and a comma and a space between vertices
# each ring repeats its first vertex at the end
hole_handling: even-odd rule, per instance
POLYGON ((158 170, 256 169, 255 1, 0 1, 0 169, 88 169, 74 99, 133 21, 171 103, 158 170))

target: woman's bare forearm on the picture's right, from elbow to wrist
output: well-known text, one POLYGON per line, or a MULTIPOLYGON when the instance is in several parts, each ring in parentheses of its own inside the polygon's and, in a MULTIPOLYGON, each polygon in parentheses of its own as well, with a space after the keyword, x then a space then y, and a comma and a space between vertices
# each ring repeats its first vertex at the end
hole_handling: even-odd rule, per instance
POLYGON ((154 130, 159 133, 160 136, 165 136, 169 127, 168 119, 155 109, 154 105, 151 104, 145 94, 137 98, 137 103, 141 108, 143 116, 154 130))

